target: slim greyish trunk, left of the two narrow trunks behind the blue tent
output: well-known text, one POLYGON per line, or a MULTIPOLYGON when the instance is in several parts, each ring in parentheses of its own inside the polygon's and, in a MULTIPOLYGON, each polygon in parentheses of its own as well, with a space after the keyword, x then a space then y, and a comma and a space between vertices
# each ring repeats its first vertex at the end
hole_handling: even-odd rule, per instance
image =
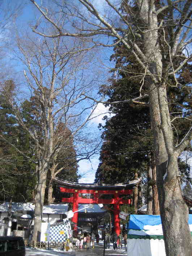
POLYGON ((153 191, 152 191, 152 162, 149 153, 148 184, 147 184, 147 214, 153 214, 153 191))

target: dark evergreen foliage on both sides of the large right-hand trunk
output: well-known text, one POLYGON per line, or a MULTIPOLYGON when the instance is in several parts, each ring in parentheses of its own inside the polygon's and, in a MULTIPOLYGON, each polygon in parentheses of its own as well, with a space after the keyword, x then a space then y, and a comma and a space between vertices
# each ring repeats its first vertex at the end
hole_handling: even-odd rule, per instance
MULTIPOLYGON (((139 42, 140 39, 136 40, 139 42)), ((103 95, 108 95, 107 102, 135 99, 140 93, 148 94, 147 80, 142 80, 143 72, 131 52, 122 44, 118 44, 114 48, 111 60, 115 61, 115 68, 111 70, 112 78, 109 80, 109 85, 102 85, 99 91, 103 95)), ((187 63, 178 74, 180 82, 178 87, 171 86, 174 85, 173 77, 170 76, 168 79, 167 98, 175 145, 178 145, 191 126, 191 93, 189 88, 184 87, 190 85, 191 71, 192 65, 187 63)), ((150 129, 148 98, 139 102, 129 101, 110 105, 114 116, 110 119, 105 117, 106 125, 99 125, 104 131, 99 158, 101 162, 95 175, 96 183, 126 182, 134 179, 136 171, 139 175, 147 171, 149 166, 147 155, 153 148, 153 135, 150 129)), ((188 150, 191 150, 190 148, 189 146, 188 150)), ((186 178, 189 175, 188 166, 183 166, 180 160, 178 162, 182 177, 186 178)))

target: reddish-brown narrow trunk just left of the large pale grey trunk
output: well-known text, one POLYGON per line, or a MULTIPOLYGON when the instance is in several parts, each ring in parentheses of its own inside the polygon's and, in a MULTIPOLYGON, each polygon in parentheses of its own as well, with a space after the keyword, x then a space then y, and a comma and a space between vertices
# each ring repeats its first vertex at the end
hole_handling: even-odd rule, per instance
POLYGON ((155 156, 154 152, 151 152, 151 158, 152 158, 152 190, 153 190, 153 214, 154 215, 160 215, 160 209, 159 209, 159 199, 158 199, 158 189, 157 189, 157 175, 156 175, 156 165, 155 165, 155 156))

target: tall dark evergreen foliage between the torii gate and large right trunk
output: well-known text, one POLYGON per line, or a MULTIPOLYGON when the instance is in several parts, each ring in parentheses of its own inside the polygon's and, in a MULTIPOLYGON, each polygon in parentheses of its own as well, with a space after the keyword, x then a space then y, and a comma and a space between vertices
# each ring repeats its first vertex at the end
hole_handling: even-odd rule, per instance
MULTIPOLYGON (((131 64, 125 66, 120 52, 121 48, 116 49, 116 54, 113 56, 116 60, 115 68, 120 68, 120 71, 116 75, 118 79, 112 79, 111 87, 107 88, 111 95, 108 102, 123 101, 139 96, 139 80, 137 77, 132 77, 132 73, 136 74, 136 66, 131 64), (132 73, 127 72, 130 69, 132 73)), ((101 93, 103 93, 103 88, 101 93)), ((147 154, 152 147, 149 108, 147 104, 129 101, 113 104, 110 110, 115 116, 111 119, 106 118, 104 127, 100 125, 100 128, 104 128, 102 134, 104 142, 95 182, 126 182, 135 178, 135 172, 141 174, 146 170, 147 154)))

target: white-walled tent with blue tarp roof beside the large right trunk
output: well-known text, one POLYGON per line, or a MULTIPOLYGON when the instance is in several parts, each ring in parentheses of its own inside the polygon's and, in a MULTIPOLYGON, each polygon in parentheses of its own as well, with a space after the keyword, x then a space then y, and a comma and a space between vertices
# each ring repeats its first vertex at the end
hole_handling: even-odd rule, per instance
MULTIPOLYGON (((192 214, 189 214, 192 232, 192 214)), ((127 235, 128 256, 166 256, 161 217, 159 215, 130 215, 127 235)))

